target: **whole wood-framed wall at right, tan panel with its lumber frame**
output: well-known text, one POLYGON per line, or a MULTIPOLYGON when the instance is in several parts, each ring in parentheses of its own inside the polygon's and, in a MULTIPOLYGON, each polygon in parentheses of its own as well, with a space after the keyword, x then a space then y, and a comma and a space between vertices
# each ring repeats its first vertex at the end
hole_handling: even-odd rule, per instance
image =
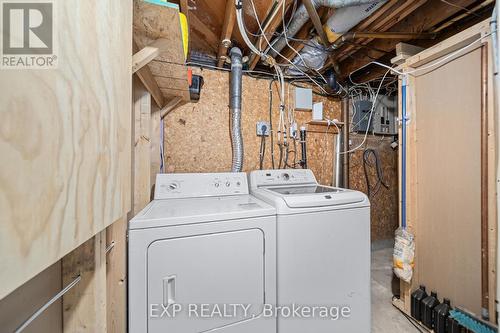
POLYGON ((401 284, 404 304, 396 304, 407 312, 411 292, 423 284, 495 320, 498 156, 489 31, 487 20, 403 65, 421 68, 408 77, 406 101, 406 222, 416 258, 411 284, 401 284))

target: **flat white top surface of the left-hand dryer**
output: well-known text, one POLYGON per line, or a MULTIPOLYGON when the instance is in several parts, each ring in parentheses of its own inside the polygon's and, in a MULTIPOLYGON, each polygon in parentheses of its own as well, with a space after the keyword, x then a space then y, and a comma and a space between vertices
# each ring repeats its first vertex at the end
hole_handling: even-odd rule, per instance
POLYGON ((129 222, 144 229, 275 215, 270 205, 251 195, 153 200, 129 222))

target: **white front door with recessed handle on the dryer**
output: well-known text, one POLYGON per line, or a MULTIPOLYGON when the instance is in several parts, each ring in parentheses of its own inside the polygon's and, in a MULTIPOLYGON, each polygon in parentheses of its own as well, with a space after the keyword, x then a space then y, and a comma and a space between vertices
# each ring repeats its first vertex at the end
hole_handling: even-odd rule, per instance
POLYGON ((263 232, 155 241, 148 249, 148 306, 149 333, 224 331, 259 316, 264 306, 263 232), (246 317, 240 304, 250 305, 246 317))

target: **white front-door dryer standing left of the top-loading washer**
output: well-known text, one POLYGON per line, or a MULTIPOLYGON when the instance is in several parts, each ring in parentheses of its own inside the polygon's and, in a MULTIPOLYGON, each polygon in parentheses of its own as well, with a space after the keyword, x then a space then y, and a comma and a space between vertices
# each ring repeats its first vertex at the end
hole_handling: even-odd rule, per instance
POLYGON ((128 236, 130 332, 276 332, 275 209, 246 174, 158 175, 128 236))

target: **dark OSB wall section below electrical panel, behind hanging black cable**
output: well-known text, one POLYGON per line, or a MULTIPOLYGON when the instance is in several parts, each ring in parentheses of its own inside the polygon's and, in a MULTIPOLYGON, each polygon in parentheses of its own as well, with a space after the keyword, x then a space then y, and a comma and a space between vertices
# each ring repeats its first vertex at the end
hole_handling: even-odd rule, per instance
MULTIPOLYGON (((352 147, 363 142, 364 134, 351 134, 352 147)), ((398 151, 391 148, 392 137, 368 135, 364 148, 378 152, 382 165, 384 181, 389 186, 381 186, 370 198, 372 241, 394 238, 398 227, 398 151)), ((368 194, 363 168, 363 152, 358 150, 350 155, 350 187, 368 194)), ((370 160, 372 160, 371 157, 370 160)), ((377 182, 375 168, 367 168, 370 185, 377 182)))

